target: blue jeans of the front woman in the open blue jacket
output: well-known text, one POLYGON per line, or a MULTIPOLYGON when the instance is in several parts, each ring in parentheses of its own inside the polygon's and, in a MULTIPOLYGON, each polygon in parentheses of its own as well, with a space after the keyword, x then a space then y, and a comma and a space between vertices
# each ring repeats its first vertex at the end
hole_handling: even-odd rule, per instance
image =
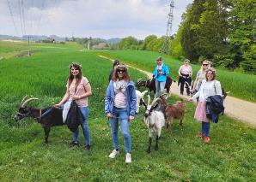
POLYGON ((125 140, 125 152, 131 153, 131 136, 129 132, 130 122, 128 121, 127 110, 114 107, 113 118, 109 119, 114 149, 119 149, 119 122, 125 140))

